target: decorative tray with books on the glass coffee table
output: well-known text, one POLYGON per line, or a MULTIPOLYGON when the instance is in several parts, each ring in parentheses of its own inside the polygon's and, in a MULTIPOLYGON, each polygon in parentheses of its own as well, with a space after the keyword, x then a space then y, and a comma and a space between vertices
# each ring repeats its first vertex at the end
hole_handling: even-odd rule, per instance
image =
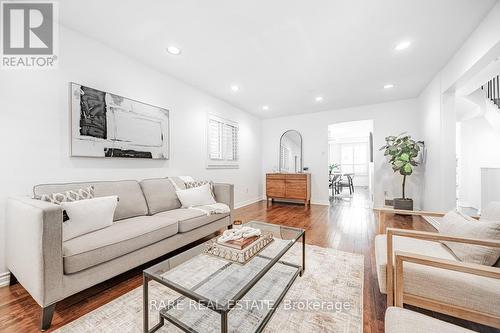
POLYGON ((205 252, 220 258, 244 264, 272 241, 273 235, 271 233, 263 233, 260 236, 241 238, 226 242, 212 240, 208 243, 205 252))

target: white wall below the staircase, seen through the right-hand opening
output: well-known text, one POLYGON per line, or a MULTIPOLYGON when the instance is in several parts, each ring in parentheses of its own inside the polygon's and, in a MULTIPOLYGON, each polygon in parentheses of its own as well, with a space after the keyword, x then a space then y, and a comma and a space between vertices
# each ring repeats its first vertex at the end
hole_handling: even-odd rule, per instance
POLYGON ((478 117, 461 123, 460 141, 460 203, 481 210, 481 168, 500 168, 500 133, 478 117))

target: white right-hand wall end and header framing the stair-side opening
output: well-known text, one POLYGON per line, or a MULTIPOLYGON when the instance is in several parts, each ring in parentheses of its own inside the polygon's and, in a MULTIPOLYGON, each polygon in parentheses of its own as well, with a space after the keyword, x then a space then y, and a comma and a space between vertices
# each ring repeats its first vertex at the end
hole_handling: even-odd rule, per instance
POLYGON ((500 46, 498 31, 500 2, 418 98, 422 135, 427 147, 423 192, 425 210, 445 211, 455 206, 454 91, 495 58, 500 46))

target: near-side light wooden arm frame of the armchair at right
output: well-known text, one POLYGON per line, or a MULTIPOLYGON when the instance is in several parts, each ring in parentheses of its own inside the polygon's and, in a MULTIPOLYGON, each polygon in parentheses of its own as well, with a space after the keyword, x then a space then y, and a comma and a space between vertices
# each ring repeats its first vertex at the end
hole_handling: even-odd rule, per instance
MULTIPOLYGON (((423 265, 428 267, 435 267, 452 272, 461 272, 472 274, 476 276, 483 276, 493 279, 500 279, 500 268, 478 265, 473 263, 458 262, 440 258, 433 258, 429 256, 396 251, 395 253, 395 284, 394 284, 394 298, 395 306, 403 307, 405 298, 411 298, 413 295, 404 295, 404 262, 423 265)), ((475 310, 466 308, 456 308, 447 304, 435 304, 432 299, 419 297, 419 301, 424 301, 427 305, 426 309, 431 311, 438 311, 451 316, 460 317, 462 319, 480 322, 485 325, 500 327, 500 318, 491 314, 481 313, 475 310)))

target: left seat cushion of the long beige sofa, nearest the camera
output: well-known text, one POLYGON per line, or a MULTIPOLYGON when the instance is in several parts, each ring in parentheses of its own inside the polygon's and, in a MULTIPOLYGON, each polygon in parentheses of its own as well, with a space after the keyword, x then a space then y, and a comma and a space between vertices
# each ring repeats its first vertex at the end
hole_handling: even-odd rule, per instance
POLYGON ((178 232, 175 219, 138 216, 63 243, 64 273, 71 274, 112 260, 178 232))

